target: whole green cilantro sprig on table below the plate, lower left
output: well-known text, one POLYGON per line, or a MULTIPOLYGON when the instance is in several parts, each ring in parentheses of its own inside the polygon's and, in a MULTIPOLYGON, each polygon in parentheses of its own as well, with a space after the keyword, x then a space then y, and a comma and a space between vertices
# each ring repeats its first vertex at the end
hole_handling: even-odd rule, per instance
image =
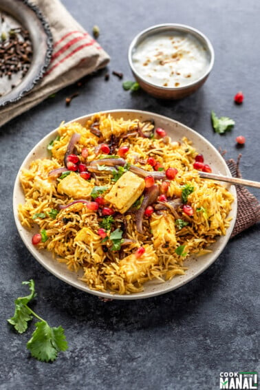
POLYGON ((41 360, 41 362, 52 362, 57 358, 59 351, 66 351, 68 347, 64 329, 61 326, 50 327, 47 321, 28 306, 28 303, 36 296, 34 281, 30 279, 22 284, 29 286, 30 294, 14 301, 14 315, 8 319, 8 323, 21 334, 28 329, 28 321, 34 317, 37 318, 39 322, 35 324, 36 329, 26 346, 34 358, 41 360))

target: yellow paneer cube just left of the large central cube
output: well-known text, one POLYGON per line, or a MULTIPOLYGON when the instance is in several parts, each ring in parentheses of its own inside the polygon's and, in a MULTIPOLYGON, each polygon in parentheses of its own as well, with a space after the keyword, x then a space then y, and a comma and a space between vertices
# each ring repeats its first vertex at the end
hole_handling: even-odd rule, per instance
POLYGON ((75 172, 70 173, 58 183, 57 191, 60 194, 65 193, 73 199, 87 199, 90 197, 94 184, 77 175, 75 172))

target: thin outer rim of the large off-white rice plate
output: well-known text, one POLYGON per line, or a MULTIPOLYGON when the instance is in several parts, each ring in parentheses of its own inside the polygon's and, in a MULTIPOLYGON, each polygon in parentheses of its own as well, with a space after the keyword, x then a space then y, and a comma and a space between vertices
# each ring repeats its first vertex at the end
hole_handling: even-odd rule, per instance
MULTIPOLYGON (((161 115, 159 113, 153 113, 151 111, 143 111, 143 110, 137 110, 137 109, 111 109, 111 110, 98 111, 98 112, 99 113, 107 113, 107 114, 111 113, 112 115, 113 115, 113 113, 115 113, 115 114, 120 113, 120 115, 122 114, 122 116, 124 116, 124 113, 126 113, 126 114, 127 113, 134 113, 138 116, 142 116, 142 115, 146 116, 148 114, 149 116, 155 116, 156 119, 169 120, 171 122, 171 125, 173 123, 177 124, 178 126, 180 125, 182 128, 184 128, 188 132, 191 132, 191 134, 193 136, 198 136, 199 138, 202 138, 203 141, 205 142, 205 144, 207 145, 207 147, 209 147, 210 149, 213 149, 215 152, 217 152, 217 149, 213 146, 213 144, 211 144, 200 133, 197 133, 197 131, 191 129, 191 127, 186 126, 186 124, 183 124, 182 122, 179 122, 173 118, 161 115)), ((65 124, 69 124, 72 122, 78 122, 78 121, 80 122, 80 120, 87 120, 87 118, 91 118, 91 116, 93 116, 95 113, 87 113, 83 116, 74 118, 72 120, 68 120, 67 122, 65 122, 65 124)), ((144 290, 142 292, 133 293, 133 294, 122 294, 122 295, 117 294, 117 293, 111 294, 110 292, 100 292, 97 290, 91 290, 88 287, 87 283, 85 285, 80 285, 78 283, 78 279, 74 280, 73 277, 72 277, 72 279, 70 279, 70 278, 66 277, 66 275, 63 275, 63 273, 61 271, 56 271, 54 268, 52 268, 52 266, 48 265, 45 262, 45 259, 42 256, 42 251, 36 250, 36 248, 34 248, 34 246, 28 241, 28 239, 26 239, 25 233, 23 232, 23 230, 26 230, 26 229, 21 225, 21 221, 19 220, 18 213, 17 213, 17 206, 19 204, 17 202, 17 193, 19 191, 19 188, 21 189, 21 187, 20 187, 21 169, 28 166, 28 163, 32 159, 32 156, 34 156, 35 151, 37 149, 39 149, 39 147, 42 147, 43 144, 45 142, 47 142, 47 140, 51 136, 53 137, 57 131, 58 131, 58 127, 56 127, 56 129, 47 133, 43 138, 41 138, 41 140, 39 140, 39 142, 37 142, 34 145, 34 147, 25 156, 23 162, 21 163, 21 166, 19 167, 19 170, 17 171, 17 177, 14 181, 14 189, 13 189, 13 195, 12 195, 12 209, 13 209, 13 214, 14 214, 14 221, 15 221, 15 224, 17 226, 17 230, 19 232, 19 235, 20 235, 23 243, 25 244, 25 247, 29 250, 29 252, 32 254, 34 259, 36 259, 36 261, 38 261, 41 264, 41 266, 43 266, 52 275, 54 275, 55 277, 57 277, 61 281, 64 281, 65 283, 72 285, 74 288, 77 288, 78 290, 82 290, 84 292, 87 292, 88 294, 100 296, 103 298, 116 299, 116 300, 122 300, 122 301, 133 301, 136 299, 147 299, 147 298, 151 298, 153 296, 166 294, 167 292, 171 292, 173 290, 176 290, 177 288, 180 288, 183 285, 186 285, 187 283, 191 282, 193 279, 196 279, 199 276, 199 274, 202 274, 205 270, 207 270, 217 260, 217 258, 220 256, 221 252, 224 250, 224 248, 226 248, 226 245, 228 243, 228 240, 230 239, 232 230, 235 226, 235 221, 236 221, 236 217, 237 217, 237 191, 236 191, 236 188, 234 185, 230 186, 230 191, 231 190, 234 191, 234 196, 235 196, 234 202, 232 204, 233 217, 232 217, 232 221, 230 222, 230 226, 228 228, 227 234, 225 236, 223 236, 224 242, 221 243, 219 248, 212 253, 212 257, 210 257, 210 261, 207 261, 206 264, 204 264, 199 269, 199 271, 195 272, 195 274, 191 274, 189 276, 186 275, 184 280, 180 280, 179 283, 177 283, 177 285, 169 285, 168 287, 166 287, 166 285, 164 285, 164 283, 162 283, 162 285, 164 285, 164 288, 162 288, 160 290, 155 290, 152 292, 147 292, 146 290, 144 290)), ((224 160, 223 156, 220 153, 218 153, 218 157, 219 157, 219 160, 221 160, 221 162, 224 163, 226 175, 229 175, 231 177, 232 175, 230 173, 230 169, 228 168, 228 165, 226 164, 226 161, 224 160)), ((72 274, 76 275, 76 272, 72 272, 72 274)))

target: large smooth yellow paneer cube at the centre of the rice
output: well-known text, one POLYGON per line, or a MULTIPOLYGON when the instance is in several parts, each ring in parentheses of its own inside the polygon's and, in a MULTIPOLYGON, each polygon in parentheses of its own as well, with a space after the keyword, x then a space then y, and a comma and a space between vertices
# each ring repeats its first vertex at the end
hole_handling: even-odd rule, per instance
POLYGON ((144 187, 144 179, 128 171, 113 185, 105 199, 123 214, 140 197, 144 187))

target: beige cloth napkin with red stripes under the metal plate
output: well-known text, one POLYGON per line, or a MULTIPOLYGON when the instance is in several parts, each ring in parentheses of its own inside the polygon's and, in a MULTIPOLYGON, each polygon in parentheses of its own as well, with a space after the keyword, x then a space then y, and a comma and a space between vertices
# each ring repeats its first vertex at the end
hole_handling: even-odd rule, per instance
POLYGON ((41 82, 28 95, 0 109, 0 126, 109 62, 108 54, 59 0, 33 0, 32 3, 50 25, 54 47, 52 61, 41 82))

